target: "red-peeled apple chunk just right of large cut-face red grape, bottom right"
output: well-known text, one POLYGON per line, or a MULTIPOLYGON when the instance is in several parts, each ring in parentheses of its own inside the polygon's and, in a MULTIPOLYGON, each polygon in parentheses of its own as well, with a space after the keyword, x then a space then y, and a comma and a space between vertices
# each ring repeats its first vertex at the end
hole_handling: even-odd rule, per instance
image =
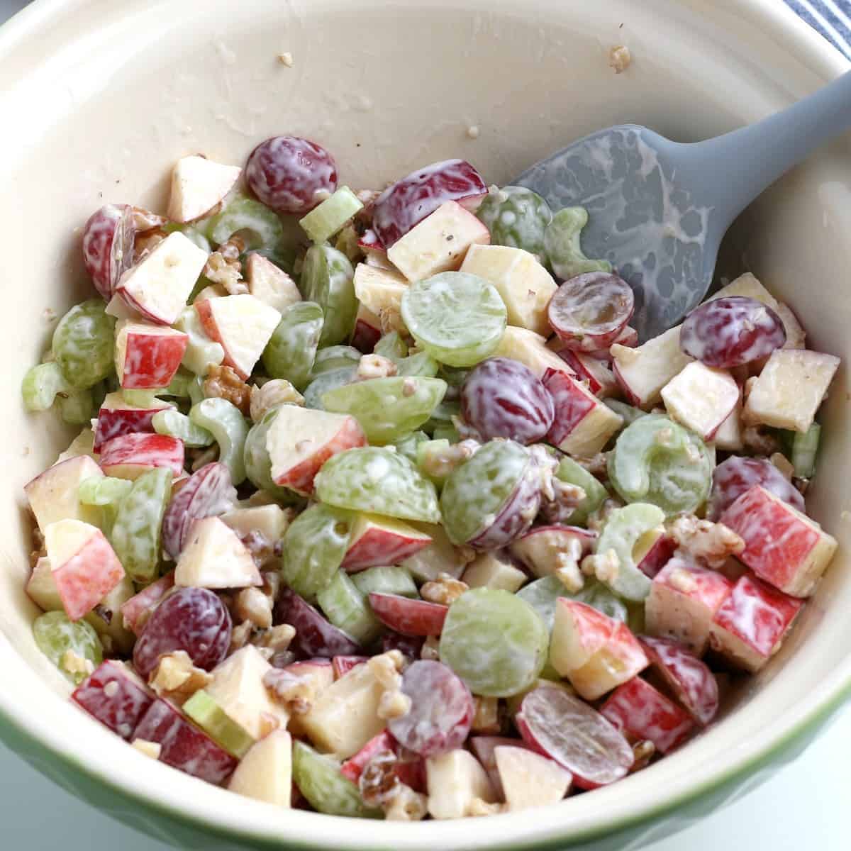
POLYGON ((692 717, 682 706, 641 677, 615 688, 600 714, 630 740, 649 740, 662 754, 682 745, 694 729, 692 717))

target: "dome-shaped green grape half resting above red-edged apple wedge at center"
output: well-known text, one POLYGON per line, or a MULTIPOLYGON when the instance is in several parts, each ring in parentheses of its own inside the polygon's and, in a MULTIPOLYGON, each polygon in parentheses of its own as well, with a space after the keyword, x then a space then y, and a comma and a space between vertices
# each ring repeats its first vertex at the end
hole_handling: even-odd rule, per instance
POLYGON ((434 485, 404 455, 368 446, 334 455, 317 474, 317 499, 328 505, 440 523, 434 485))

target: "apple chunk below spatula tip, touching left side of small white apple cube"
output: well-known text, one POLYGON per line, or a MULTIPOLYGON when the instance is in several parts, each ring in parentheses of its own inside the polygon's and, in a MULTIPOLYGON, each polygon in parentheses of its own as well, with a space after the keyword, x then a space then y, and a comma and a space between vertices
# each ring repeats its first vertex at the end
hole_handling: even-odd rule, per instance
POLYGON ((613 343, 614 377, 631 404, 652 408, 661 399, 662 388, 691 363, 680 349, 680 326, 633 349, 613 343))

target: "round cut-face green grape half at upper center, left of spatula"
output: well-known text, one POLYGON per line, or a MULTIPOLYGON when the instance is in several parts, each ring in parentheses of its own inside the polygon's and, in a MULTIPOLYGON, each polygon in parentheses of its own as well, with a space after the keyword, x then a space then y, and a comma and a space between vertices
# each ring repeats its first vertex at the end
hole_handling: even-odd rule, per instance
POLYGON ((462 271, 412 283, 402 296, 402 318, 414 340, 453 367, 471 367, 492 354, 505 331, 505 317, 494 285, 462 271))

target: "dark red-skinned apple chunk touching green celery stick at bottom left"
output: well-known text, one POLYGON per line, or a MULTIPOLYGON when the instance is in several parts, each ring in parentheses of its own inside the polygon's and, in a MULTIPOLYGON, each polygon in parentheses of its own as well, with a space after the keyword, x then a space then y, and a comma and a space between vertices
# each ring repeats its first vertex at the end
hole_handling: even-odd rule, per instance
POLYGON ((215 785, 224 783, 239 762, 162 698, 146 711, 134 739, 156 742, 162 748, 160 762, 215 785))

